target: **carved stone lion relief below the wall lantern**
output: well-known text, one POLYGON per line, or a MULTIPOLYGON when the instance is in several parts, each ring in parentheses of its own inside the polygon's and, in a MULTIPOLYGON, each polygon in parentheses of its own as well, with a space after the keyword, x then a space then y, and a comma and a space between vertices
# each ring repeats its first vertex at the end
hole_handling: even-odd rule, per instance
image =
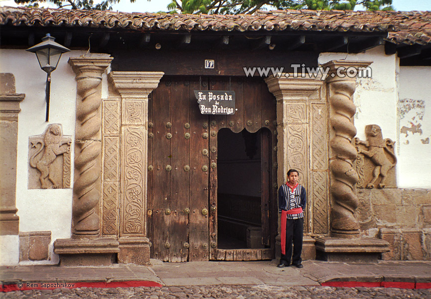
POLYGON ((29 189, 70 187, 71 137, 63 136, 61 125, 49 125, 42 135, 29 138, 29 189))

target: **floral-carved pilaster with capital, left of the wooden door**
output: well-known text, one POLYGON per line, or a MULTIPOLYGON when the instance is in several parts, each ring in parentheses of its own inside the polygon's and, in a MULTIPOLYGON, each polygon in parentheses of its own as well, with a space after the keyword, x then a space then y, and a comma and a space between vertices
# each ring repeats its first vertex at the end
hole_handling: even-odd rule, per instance
POLYGON ((121 96, 121 195, 119 236, 146 236, 148 95, 162 72, 111 72, 121 96))

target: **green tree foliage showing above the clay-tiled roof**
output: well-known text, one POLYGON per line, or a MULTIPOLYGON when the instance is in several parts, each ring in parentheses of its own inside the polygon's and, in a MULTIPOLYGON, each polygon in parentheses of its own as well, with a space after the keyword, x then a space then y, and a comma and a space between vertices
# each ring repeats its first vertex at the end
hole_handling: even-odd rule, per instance
MULTIPOLYGON (((35 7, 40 2, 51 2, 58 7, 99 10, 112 9, 112 5, 119 1, 102 0, 95 3, 94 0, 15 0, 18 4, 35 7)), ((251 14, 265 8, 353 10, 356 5, 363 5, 367 10, 393 10, 391 4, 392 0, 172 0, 167 8, 171 13, 251 14)))

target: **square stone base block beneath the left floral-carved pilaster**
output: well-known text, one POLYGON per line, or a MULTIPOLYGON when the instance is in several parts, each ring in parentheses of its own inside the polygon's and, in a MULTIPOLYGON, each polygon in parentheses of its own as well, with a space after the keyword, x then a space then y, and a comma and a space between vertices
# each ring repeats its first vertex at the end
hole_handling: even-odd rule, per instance
POLYGON ((118 263, 132 263, 136 265, 150 264, 150 245, 148 238, 120 238, 118 241, 118 263))

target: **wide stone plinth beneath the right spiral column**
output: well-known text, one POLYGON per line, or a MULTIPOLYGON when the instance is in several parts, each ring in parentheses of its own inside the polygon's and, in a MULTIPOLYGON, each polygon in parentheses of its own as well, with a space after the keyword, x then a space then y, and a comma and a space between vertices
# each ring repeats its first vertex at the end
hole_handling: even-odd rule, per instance
POLYGON ((375 238, 316 238, 316 258, 328 262, 376 263, 389 243, 375 238))

